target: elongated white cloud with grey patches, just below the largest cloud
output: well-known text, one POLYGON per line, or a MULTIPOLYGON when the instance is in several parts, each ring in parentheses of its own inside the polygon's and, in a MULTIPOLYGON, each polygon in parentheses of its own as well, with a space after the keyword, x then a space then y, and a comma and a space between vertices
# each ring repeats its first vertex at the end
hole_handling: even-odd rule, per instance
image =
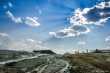
POLYGON ((57 32, 49 32, 49 34, 53 37, 65 38, 65 37, 79 36, 79 35, 87 34, 89 32, 90 32, 90 29, 86 26, 73 25, 68 28, 59 30, 57 32))

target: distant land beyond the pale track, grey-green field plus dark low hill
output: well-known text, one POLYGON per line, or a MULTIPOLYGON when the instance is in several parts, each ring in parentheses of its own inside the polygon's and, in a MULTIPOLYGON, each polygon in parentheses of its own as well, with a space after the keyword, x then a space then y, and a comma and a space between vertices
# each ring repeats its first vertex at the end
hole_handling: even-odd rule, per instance
POLYGON ((56 54, 51 50, 34 50, 33 52, 16 51, 16 50, 0 50, 0 62, 12 59, 18 59, 35 54, 56 54))

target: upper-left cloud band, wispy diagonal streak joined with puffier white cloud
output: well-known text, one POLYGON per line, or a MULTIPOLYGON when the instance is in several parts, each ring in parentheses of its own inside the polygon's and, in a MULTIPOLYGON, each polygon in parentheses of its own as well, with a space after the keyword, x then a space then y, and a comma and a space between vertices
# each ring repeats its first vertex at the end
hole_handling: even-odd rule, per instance
POLYGON ((38 27, 40 25, 37 17, 15 17, 10 11, 7 11, 6 14, 15 23, 23 23, 31 27, 38 27))

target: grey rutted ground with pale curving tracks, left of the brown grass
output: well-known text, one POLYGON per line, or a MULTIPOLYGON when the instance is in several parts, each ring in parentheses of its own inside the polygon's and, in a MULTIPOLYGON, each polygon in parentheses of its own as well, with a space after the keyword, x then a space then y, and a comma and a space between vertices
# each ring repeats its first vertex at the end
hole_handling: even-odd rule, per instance
POLYGON ((62 55, 34 53, 0 62, 0 73, 69 73, 69 63, 62 55))

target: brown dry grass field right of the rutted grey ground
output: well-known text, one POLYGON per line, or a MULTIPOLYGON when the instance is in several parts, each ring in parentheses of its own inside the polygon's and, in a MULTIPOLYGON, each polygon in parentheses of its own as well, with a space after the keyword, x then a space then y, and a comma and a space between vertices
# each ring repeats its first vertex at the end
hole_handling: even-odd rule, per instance
POLYGON ((72 54, 66 58, 72 65, 71 73, 110 73, 109 54, 72 54))

